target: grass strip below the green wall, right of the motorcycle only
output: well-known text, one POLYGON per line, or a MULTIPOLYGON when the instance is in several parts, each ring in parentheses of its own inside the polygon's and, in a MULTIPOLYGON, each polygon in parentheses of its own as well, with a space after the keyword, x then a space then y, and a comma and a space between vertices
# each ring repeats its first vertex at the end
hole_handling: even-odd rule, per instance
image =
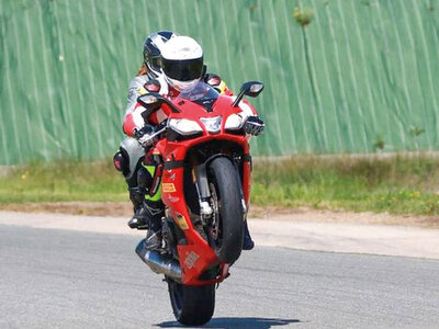
POLYGON ((296 157, 255 163, 252 202, 353 212, 439 214, 439 159, 296 157))

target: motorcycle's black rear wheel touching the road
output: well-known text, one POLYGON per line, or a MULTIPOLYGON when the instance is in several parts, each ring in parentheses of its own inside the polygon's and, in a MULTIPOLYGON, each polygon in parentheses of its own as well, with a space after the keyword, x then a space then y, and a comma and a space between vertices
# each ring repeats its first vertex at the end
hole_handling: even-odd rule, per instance
POLYGON ((184 326, 209 322, 215 309, 215 284, 183 285, 169 279, 168 290, 176 319, 184 326))

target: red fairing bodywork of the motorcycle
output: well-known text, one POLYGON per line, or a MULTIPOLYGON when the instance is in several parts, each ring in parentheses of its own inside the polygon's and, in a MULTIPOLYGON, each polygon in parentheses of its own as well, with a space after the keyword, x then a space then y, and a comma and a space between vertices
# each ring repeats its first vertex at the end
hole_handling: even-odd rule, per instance
MULTIPOLYGON (((247 112, 250 110, 255 114, 257 112, 248 102, 245 102, 247 105, 244 106, 246 107, 245 110, 241 107, 232 107, 234 98, 226 94, 219 95, 210 111, 198 103, 182 100, 180 98, 173 98, 171 99, 171 102, 180 112, 173 113, 170 111, 169 106, 164 105, 161 110, 166 113, 169 120, 190 120, 198 123, 203 129, 201 136, 193 138, 185 138, 183 140, 161 139, 151 150, 151 152, 156 155, 160 154, 164 160, 161 200, 165 205, 168 206, 170 216, 173 218, 176 225, 183 231, 185 237, 185 243, 177 246, 180 266, 182 270, 182 283, 187 285, 200 285, 221 282, 227 274, 226 269, 228 269, 228 264, 218 261, 214 249, 193 227, 183 192, 184 169, 181 164, 176 163, 190 162, 190 160, 187 159, 188 150, 201 144, 205 145, 210 141, 222 140, 227 143, 227 145, 236 145, 237 149, 241 149, 243 151, 241 189, 244 200, 248 205, 250 198, 249 136, 244 133, 234 134, 227 132, 225 129, 225 123, 227 117, 232 114, 237 114, 245 110, 247 110, 247 112), (222 117, 221 131, 218 133, 210 133, 201 118, 205 120, 206 117, 218 116, 222 117), (223 274, 210 281, 200 280, 200 275, 215 264, 221 266, 221 273, 223 274)), ((221 152, 222 150, 218 150, 218 154, 221 152)))

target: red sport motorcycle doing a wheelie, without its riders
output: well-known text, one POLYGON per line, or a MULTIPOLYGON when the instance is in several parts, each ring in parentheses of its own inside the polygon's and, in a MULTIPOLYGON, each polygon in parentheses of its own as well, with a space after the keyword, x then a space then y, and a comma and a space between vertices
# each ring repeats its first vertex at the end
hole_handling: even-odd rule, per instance
POLYGON ((166 137, 150 150, 162 162, 164 246, 150 251, 140 241, 136 252, 165 274, 173 314, 183 325, 212 318, 215 285, 241 253, 251 157, 247 116, 238 104, 262 89, 261 82, 246 82, 232 98, 200 82, 172 100, 157 93, 139 98, 147 111, 168 106, 170 114, 158 132, 166 137))

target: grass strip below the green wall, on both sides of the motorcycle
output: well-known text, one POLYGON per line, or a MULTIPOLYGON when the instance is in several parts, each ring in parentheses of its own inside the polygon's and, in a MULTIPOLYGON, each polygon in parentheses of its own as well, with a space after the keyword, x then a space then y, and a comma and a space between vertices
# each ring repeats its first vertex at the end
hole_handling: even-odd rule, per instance
MULTIPOLYGON (((251 203, 439 215, 439 158, 427 156, 257 159, 251 203)), ((31 163, 0 179, 0 203, 127 201, 111 161, 31 163)))

